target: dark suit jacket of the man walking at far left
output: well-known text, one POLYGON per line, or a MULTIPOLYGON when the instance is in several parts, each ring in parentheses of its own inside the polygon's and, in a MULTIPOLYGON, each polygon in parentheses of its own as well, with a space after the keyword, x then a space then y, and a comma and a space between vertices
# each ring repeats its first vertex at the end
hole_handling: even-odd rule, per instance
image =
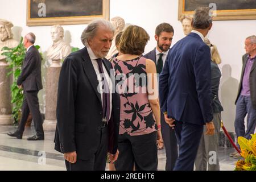
POLYGON ((22 72, 17 84, 23 85, 26 91, 36 91, 43 88, 41 76, 41 56, 35 46, 28 49, 22 64, 22 72))

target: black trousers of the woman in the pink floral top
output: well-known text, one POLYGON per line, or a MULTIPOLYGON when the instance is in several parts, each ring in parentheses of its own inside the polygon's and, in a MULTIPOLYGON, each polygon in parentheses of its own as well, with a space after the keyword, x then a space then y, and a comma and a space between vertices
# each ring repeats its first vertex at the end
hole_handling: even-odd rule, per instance
POLYGON ((157 171, 158 151, 156 131, 139 136, 119 135, 118 159, 115 162, 117 171, 157 171))

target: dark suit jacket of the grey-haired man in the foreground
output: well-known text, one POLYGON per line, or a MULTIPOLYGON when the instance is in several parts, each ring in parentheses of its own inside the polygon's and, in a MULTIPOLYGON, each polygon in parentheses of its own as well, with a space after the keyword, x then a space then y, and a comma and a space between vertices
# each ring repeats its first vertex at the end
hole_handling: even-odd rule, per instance
MULTIPOLYGON (((111 63, 104 59, 110 74, 111 63)), ((77 152, 81 160, 91 159, 101 139, 102 104, 97 92, 98 80, 85 48, 71 53, 60 71, 57 93, 57 127, 55 150, 77 152)), ((115 86, 113 85, 113 88, 115 86)), ((112 117, 108 123, 108 151, 115 154, 118 146, 120 100, 112 94, 112 117)))

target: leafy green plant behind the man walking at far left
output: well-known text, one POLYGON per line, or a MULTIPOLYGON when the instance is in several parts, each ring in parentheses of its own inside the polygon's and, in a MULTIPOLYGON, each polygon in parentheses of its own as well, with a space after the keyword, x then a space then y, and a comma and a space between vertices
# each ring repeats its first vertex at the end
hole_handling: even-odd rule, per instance
MULTIPOLYGON (((40 46, 35 46, 37 49, 40 46)), ((13 117, 15 123, 18 123, 21 107, 23 102, 23 92, 22 89, 18 88, 17 80, 21 73, 22 63, 26 55, 26 48, 23 46, 23 38, 20 38, 19 45, 14 48, 3 47, 2 55, 6 56, 6 61, 9 63, 10 72, 7 76, 13 75, 13 84, 11 85, 11 103, 13 104, 13 117)), ((42 56, 42 55, 41 55, 42 56)))

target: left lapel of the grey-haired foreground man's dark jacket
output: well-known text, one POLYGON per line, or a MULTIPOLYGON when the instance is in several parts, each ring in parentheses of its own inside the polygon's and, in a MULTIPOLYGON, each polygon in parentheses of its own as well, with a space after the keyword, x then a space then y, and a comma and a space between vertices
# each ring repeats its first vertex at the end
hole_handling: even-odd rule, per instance
POLYGON ((90 60, 90 56, 87 52, 86 47, 84 48, 85 50, 82 51, 82 59, 84 60, 82 62, 82 68, 84 69, 85 75, 88 77, 88 80, 90 81, 90 84, 92 85, 92 88, 94 92, 96 93, 98 100, 101 102, 101 94, 98 92, 98 78, 96 75, 96 72, 94 70, 92 60, 90 60))

